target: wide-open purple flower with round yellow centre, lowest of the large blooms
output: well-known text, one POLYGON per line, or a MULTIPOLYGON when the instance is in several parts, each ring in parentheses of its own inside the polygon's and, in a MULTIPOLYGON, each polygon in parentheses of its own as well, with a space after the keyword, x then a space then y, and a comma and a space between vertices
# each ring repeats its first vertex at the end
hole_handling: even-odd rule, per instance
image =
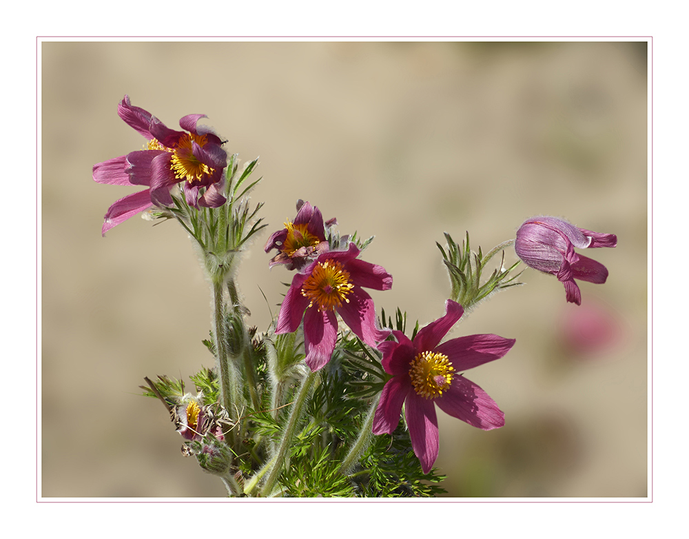
POLYGON ((445 316, 420 329, 413 341, 395 330, 393 335, 398 342, 387 340, 378 345, 383 353, 383 368, 393 376, 380 394, 373 416, 373 434, 392 434, 400 423, 404 404, 411 447, 424 474, 438 457, 435 405, 480 429, 491 430, 505 424, 504 414, 493 399, 459 373, 502 358, 515 340, 486 334, 438 344, 463 313, 462 306, 449 299, 445 316))

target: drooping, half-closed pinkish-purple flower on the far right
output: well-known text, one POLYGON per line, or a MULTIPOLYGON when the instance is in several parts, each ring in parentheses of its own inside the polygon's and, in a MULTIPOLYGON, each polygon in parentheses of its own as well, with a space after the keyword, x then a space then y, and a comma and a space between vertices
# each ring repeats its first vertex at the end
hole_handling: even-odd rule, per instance
POLYGON ((582 304, 575 279, 602 284, 608 269, 599 262, 574 252, 593 247, 615 247, 615 234, 600 234, 555 217, 532 217, 517 230, 515 251, 522 261, 539 272, 551 273, 564 284, 567 301, 582 304))

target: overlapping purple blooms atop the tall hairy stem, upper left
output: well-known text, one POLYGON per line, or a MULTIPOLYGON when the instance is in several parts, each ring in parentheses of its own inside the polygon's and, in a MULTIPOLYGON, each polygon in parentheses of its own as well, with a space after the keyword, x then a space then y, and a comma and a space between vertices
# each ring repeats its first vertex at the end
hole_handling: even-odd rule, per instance
POLYGON ((188 114, 179 121, 185 131, 175 131, 143 108, 134 107, 129 96, 117 114, 148 140, 145 150, 109 159, 93 167, 93 179, 112 185, 145 185, 148 188, 116 201, 105 214, 102 233, 131 216, 156 206, 172 205, 170 189, 183 182, 187 203, 193 207, 218 207, 223 196, 227 153, 220 138, 196 122, 205 114, 188 114), (203 193, 200 193, 201 190, 203 193))

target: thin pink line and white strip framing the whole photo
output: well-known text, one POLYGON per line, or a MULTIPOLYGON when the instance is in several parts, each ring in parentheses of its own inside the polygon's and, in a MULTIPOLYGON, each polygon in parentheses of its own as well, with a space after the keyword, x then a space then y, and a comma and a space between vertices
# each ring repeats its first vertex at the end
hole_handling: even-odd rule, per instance
MULTIPOLYGON (((356 503, 356 502, 367 502, 367 498, 355 498, 351 501, 347 500, 313 500, 311 498, 283 498, 282 500, 252 500, 249 498, 236 498, 233 500, 47 500, 45 498, 39 498, 39 332, 38 332, 38 312, 39 312, 39 43, 41 39, 45 38, 88 38, 96 37, 101 39, 107 38, 137 38, 145 37, 151 39, 152 36, 37 36, 36 37, 36 502, 37 503, 227 503, 227 502, 243 502, 243 503, 293 503, 293 502, 315 502, 315 503, 356 503)), ((175 36, 153 36, 154 39, 161 39, 166 37, 175 36)), ((325 37, 328 39, 338 39, 348 36, 184 36, 185 39, 194 39, 197 37, 203 37, 205 39, 212 39, 215 37, 225 37, 227 39, 263 39, 265 37, 278 38, 278 39, 299 39, 302 37, 308 38, 321 38, 325 37)), ((376 37, 382 39, 388 39, 393 37, 402 36, 349 36, 356 38, 367 38, 376 37)), ((512 37, 520 36, 406 36, 407 39, 414 39, 419 37, 429 37, 435 39, 456 39, 456 38, 471 38, 479 37, 482 39, 490 39, 492 37, 500 37, 510 39, 512 37)), ((423 503, 653 503, 653 37, 652 36, 529 36, 526 39, 542 39, 542 38, 554 37, 556 39, 567 39, 573 37, 586 38, 586 39, 596 39, 596 38, 614 38, 614 39, 625 39, 625 38, 636 38, 639 41, 645 39, 650 43, 650 96, 648 96, 648 103, 650 103, 650 496, 649 500, 463 500, 462 498, 420 498, 414 500, 407 500, 405 498, 395 498, 390 500, 381 500, 375 503, 404 503, 404 502, 423 502, 423 503)), ((180 36, 176 36, 176 39, 180 39, 180 36)), ((524 38, 523 36, 521 37, 524 38)), ((523 42, 523 41, 522 41, 523 42)), ((647 60, 648 65, 648 60, 647 60)), ((369 500, 372 502, 372 500, 369 500)))

